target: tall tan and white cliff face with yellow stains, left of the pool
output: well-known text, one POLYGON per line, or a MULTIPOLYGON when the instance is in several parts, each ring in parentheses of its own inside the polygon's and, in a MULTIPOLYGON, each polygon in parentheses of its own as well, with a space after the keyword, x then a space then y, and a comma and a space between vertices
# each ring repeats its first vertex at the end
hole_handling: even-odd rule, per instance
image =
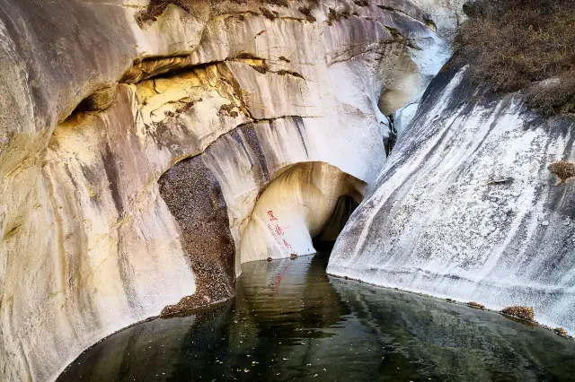
POLYGON ((242 261, 309 253, 385 163, 378 105, 441 65, 408 1, 147 3, 0 0, 3 380, 54 379, 122 327, 232 293, 242 261), (306 205, 291 248, 258 223, 288 190, 306 205))

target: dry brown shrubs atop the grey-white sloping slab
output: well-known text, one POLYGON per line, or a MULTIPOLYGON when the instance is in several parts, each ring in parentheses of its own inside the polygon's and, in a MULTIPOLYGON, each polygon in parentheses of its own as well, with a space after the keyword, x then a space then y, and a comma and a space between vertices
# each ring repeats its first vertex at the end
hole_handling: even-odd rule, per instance
POLYGON ((526 89, 527 103, 544 114, 575 112, 575 2, 572 0, 480 0, 457 31, 461 64, 474 82, 494 91, 526 89))

